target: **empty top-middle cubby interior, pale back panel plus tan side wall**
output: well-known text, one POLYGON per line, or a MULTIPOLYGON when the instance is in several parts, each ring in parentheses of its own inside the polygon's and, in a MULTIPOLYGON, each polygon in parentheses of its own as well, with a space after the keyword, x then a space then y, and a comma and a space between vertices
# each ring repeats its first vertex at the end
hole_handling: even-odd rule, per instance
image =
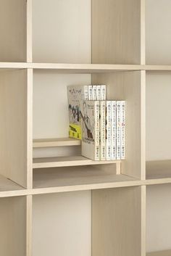
POLYGON ((33 1, 33 62, 140 64, 141 1, 33 1))

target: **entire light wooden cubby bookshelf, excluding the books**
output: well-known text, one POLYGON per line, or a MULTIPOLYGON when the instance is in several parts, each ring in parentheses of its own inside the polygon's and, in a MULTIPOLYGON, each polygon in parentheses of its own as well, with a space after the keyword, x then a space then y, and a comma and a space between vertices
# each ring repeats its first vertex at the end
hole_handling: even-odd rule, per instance
POLYGON ((171 255, 170 218, 155 229, 170 211, 170 9, 1 0, 0 255, 171 255), (68 138, 67 86, 91 83, 127 102, 125 160, 68 138))

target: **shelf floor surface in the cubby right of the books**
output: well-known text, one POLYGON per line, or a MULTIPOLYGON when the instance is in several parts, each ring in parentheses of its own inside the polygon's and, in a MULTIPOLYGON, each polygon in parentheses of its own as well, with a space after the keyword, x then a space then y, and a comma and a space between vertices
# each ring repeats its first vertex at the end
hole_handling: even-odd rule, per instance
POLYGON ((146 179, 171 178, 171 160, 146 162, 146 179))

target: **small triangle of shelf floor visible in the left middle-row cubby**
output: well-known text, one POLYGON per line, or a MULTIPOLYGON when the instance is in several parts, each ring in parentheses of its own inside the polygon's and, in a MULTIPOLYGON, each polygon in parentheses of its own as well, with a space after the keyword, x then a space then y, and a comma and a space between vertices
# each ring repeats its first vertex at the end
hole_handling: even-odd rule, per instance
POLYGON ((5 178, 4 176, 0 176, 0 192, 2 191, 15 191, 24 189, 22 186, 14 183, 13 181, 9 180, 9 178, 5 178))

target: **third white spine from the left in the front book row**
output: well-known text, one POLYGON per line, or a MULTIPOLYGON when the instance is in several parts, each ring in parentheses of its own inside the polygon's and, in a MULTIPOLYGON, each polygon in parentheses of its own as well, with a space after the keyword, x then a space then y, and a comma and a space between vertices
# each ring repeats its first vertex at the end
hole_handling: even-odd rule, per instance
POLYGON ((111 160, 111 101, 107 101, 106 104, 106 159, 111 160))

